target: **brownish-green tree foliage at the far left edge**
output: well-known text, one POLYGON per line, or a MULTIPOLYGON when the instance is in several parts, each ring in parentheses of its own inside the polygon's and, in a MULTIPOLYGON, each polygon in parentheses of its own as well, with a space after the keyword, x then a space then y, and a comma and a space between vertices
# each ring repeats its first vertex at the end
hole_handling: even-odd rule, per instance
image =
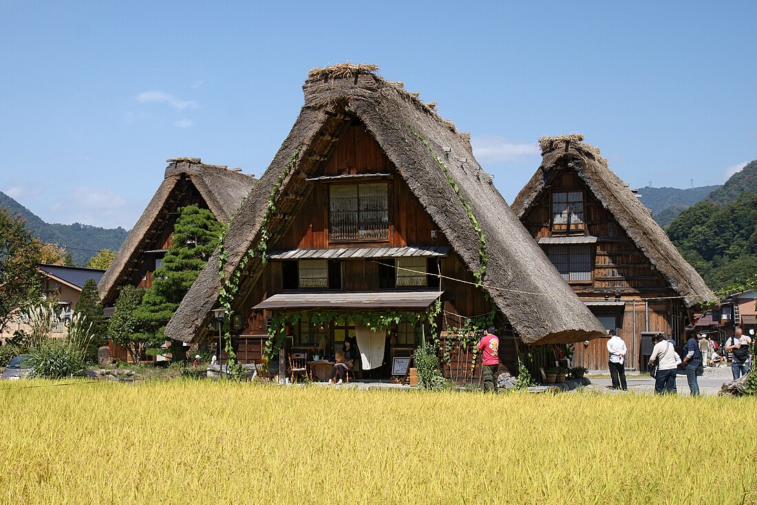
POLYGON ((39 301, 40 256, 39 242, 26 230, 24 221, 8 209, 0 209, 0 330, 15 310, 25 310, 39 301))

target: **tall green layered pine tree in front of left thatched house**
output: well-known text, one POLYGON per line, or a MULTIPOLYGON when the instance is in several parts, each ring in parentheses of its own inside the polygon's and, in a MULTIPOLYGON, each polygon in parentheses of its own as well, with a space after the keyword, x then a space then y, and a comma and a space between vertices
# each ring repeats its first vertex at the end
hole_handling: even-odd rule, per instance
POLYGON ((165 340, 164 328, 218 244, 221 224, 213 213, 188 205, 173 227, 173 245, 163 259, 163 267, 153 274, 153 284, 145 291, 136 315, 142 331, 165 340))

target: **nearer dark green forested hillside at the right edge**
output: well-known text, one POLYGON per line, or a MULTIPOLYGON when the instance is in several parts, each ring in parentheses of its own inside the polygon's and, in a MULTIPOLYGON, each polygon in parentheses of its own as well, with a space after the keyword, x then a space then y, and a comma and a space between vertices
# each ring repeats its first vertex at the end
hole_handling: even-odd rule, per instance
POLYGON ((681 212, 668 236, 715 290, 757 273, 757 161, 681 212))

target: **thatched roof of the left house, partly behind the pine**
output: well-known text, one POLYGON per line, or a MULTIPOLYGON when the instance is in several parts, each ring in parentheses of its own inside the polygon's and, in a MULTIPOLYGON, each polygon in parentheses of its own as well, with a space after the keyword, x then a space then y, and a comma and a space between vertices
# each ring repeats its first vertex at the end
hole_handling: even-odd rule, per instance
POLYGON ((107 268, 98 290, 104 304, 114 303, 118 287, 129 278, 132 268, 142 261, 142 253, 152 240, 161 234, 163 225, 192 183, 219 221, 229 221, 245 196, 250 193, 255 178, 220 165, 204 164, 200 158, 171 158, 167 160, 165 178, 150 203, 142 212, 129 236, 107 268))

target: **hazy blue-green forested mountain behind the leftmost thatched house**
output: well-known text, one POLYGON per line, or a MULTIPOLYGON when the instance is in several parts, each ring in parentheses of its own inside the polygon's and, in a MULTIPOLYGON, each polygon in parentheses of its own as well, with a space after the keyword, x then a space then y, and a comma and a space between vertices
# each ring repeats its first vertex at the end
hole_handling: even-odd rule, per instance
POLYGON ((39 235, 42 242, 57 243, 65 246, 76 265, 84 263, 95 256, 100 249, 117 251, 128 231, 122 227, 101 228, 89 224, 48 224, 16 200, 0 191, 0 207, 8 207, 13 215, 26 219, 26 228, 39 235))

